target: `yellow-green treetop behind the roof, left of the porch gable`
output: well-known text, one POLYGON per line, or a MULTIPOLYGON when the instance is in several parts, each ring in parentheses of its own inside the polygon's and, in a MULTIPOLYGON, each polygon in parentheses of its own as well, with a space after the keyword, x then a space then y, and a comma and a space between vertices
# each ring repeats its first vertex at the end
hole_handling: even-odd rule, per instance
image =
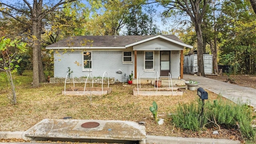
POLYGON ((124 18, 137 0, 92 0, 92 18, 86 24, 89 35, 114 35, 124 27, 124 18))

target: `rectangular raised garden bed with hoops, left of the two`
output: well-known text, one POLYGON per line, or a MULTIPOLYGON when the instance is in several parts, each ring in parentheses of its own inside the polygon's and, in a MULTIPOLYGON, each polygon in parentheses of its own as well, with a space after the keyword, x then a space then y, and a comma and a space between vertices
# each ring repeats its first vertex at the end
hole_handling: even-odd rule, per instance
MULTIPOLYGON (((110 94, 112 92, 112 88, 103 88, 103 95, 110 94)), ((62 94, 65 94, 65 91, 62 91, 62 94)), ((70 87, 66 89, 66 95, 102 95, 102 88, 99 87, 89 87, 85 89, 84 87, 70 87)))

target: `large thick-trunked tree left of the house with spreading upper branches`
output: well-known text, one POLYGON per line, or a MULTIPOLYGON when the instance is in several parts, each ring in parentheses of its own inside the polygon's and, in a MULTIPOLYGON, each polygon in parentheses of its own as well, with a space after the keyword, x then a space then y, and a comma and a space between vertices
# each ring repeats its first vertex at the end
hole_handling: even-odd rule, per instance
POLYGON ((32 38, 33 57, 33 87, 38 87, 39 82, 45 82, 42 58, 41 58, 41 34, 44 18, 51 12, 63 8, 67 4, 76 0, 46 1, 28 0, 16 1, 14 4, 0 2, 0 12, 8 15, 14 20, 28 26, 30 37, 32 38))

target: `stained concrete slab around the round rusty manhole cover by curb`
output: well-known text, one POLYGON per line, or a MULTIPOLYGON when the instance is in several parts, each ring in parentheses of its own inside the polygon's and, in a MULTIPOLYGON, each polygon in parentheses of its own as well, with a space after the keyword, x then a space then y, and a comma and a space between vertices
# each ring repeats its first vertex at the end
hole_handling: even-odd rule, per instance
MULTIPOLYGON (((97 140, 124 140, 146 143, 145 126, 136 122, 120 120, 63 120, 44 119, 25 132, 31 138, 55 138, 79 142, 102 142, 97 140), (86 122, 98 122, 95 128, 83 128, 86 122), (87 141, 88 140, 88 141, 87 141)), ((52 139, 51 139, 52 140, 52 139)), ((116 141, 115 141, 116 142, 116 141)))

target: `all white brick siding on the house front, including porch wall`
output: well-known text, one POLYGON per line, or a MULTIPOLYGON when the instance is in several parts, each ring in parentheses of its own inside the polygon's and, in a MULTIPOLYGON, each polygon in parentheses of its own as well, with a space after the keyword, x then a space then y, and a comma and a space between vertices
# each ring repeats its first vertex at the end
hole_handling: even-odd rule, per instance
MULTIPOLYGON (((129 51, 129 50, 124 50, 129 51)), ((54 77, 65 78, 68 73, 68 67, 73 71, 74 77, 88 76, 89 72, 83 70, 83 52, 56 52, 54 51, 54 77), (75 63, 76 62, 76 63, 75 63), (80 64, 80 65, 77 65, 80 64)), ((108 72, 109 78, 115 78, 122 82, 124 79, 124 73, 129 76, 131 72, 134 72, 134 52, 132 52, 132 64, 122 63, 122 51, 89 51, 92 52, 92 76, 102 77, 103 73, 108 72), (116 73, 121 69, 122 74, 116 73)), ((148 72, 144 70, 144 51, 137 51, 137 72, 139 72, 140 78, 155 78, 156 72, 160 74, 159 70, 159 51, 154 51, 154 70, 148 72)), ((171 72, 172 78, 178 78, 180 76, 180 51, 171 51, 171 72)), ((105 75, 106 76, 106 75, 105 75)), ((138 76, 137 76, 138 78, 138 76)))

